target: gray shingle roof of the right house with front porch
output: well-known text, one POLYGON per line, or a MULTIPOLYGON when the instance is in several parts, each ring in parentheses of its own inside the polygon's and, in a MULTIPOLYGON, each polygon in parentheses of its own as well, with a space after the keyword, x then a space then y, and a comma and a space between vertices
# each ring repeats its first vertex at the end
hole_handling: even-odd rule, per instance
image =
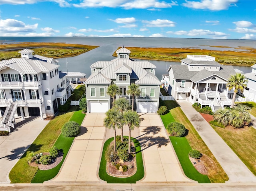
POLYGON ((224 65, 220 67, 220 71, 189 71, 188 65, 171 65, 170 69, 172 69, 175 79, 184 79, 191 80, 194 83, 211 77, 213 75, 217 75, 224 80, 227 80, 230 75, 234 75, 236 71, 233 66, 224 65))

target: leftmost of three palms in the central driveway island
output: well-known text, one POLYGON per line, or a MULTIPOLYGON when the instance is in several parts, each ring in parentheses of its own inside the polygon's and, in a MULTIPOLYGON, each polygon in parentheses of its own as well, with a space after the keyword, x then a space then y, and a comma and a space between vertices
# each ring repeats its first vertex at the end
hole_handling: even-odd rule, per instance
POLYGON ((114 129, 114 152, 116 153, 116 127, 120 128, 121 114, 115 108, 110 109, 106 112, 104 118, 104 126, 109 129, 114 129))

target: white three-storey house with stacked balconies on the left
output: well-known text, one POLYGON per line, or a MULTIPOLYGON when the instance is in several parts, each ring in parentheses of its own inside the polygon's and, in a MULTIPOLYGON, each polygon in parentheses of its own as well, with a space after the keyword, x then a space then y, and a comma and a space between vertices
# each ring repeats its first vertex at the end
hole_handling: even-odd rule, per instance
POLYGON ((21 58, 0 61, 0 130, 10 130, 15 116, 53 116, 70 92, 66 73, 53 58, 19 51, 21 58))

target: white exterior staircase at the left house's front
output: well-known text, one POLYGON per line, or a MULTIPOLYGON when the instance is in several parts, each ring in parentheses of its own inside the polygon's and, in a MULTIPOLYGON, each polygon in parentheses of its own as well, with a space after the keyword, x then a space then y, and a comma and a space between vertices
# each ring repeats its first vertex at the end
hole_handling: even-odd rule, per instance
POLYGON ((0 131, 7 130, 10 132, 10 127, 14 128, 14 124, 12 123, 12 121, 14 120, 14 114, 17 107, 17 102, 9 102, 4 112, 2 121, 0 122, 0 131))

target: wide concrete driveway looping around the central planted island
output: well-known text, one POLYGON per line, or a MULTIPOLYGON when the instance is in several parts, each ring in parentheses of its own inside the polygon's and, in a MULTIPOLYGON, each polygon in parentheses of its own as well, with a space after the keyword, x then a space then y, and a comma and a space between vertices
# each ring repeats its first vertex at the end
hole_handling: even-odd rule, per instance
MULTIPOLYGON (((103 144, 113 137, 114 130, 103 126, 105 114, 86 114, 80 134, 75 138, 59 174, 48 182, 96 183, 104 181, 98 177, 103 144)), ((144 155, 145 176, 141 182, 191 182, 180 167, 175 151, 166 135, 158 114, 142 114, 140 128, 132 131, 144 155)), ((120 130, 116 130, 120 135, 120 130)), ((124 127, 124 136, 128 128, 124 127)))

